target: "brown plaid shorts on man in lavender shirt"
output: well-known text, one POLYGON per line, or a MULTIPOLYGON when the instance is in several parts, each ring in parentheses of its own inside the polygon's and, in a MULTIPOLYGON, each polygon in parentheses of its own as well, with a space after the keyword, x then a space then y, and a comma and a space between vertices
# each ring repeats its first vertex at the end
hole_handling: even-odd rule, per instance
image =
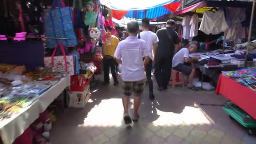
POLYGON ((122 81, 122 87, 124 91, 125 96, 131 96, 132 93, 135 94, 135 96, 140 96, 143 93, 145 86, 145 79, 135 81, 135 82, 125 82, 122 81))

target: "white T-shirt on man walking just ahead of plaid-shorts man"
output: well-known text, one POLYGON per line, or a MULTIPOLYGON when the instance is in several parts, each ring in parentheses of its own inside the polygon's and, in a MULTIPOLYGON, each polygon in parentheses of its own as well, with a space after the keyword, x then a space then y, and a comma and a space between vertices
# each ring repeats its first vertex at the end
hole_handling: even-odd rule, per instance
POLYGON ((140 39, 145 40, 147 44, 147 51, 149 52, 149 58, 153 59, 153 54, 152 54, 153 45, 159 42, 157 35, 151 31, 141 32, 140 39))

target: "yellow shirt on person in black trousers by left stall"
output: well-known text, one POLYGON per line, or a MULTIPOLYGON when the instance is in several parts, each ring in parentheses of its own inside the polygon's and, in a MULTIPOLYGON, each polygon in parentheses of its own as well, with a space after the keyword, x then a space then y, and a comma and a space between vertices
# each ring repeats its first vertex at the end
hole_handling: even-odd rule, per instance
POLYGON ((115 54, 115 49, 117 48, 117 45, 119 43, 119 40, 116 36, 112 35, 110 37, 110 45, 107 45, 107 43, 103 44, 103 56, 113 56, 115 54))

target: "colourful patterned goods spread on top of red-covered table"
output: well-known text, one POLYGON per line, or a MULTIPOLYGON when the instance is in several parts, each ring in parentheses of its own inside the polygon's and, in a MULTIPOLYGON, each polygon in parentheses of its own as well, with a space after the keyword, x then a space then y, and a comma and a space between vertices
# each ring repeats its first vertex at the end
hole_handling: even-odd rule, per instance
POLYGON ((247 86, 256 92, 256 67, 222 72, 222 75, 230 77, 237 83, 247 86))

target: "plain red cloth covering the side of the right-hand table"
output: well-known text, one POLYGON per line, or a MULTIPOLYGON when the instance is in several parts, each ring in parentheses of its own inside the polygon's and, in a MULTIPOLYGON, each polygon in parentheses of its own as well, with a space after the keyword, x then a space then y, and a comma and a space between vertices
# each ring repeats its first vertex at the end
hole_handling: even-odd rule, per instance
POLYGON ((229 77, 220 75, 216 94, 222 94, 256 119, 256 92, 250 88, 237 83, 229 77))

